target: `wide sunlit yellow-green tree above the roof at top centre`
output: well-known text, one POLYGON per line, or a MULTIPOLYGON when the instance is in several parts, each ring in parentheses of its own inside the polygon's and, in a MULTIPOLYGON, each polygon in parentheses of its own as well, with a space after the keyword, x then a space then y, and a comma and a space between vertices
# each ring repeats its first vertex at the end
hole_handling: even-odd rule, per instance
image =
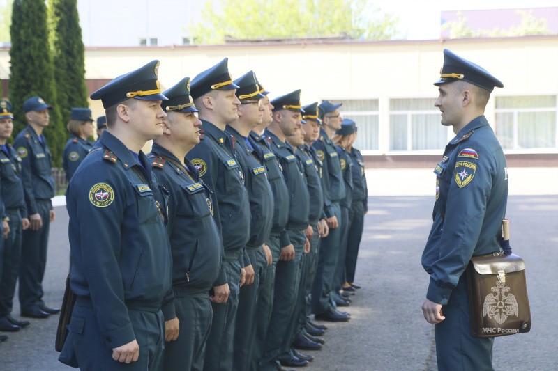
POLYGON ((195 43, 222 44, 234 38, 304 38, 345 32, 354 40, 398 38, 398 17, 381 14, 368 0, 207 1, 195 43))

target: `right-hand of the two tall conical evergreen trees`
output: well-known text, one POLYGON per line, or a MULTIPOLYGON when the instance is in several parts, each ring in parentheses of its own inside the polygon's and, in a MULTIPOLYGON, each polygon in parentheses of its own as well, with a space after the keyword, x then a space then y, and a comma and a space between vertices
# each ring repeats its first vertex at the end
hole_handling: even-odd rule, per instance
POLYGON ((77 14, 77 0, 51 0, 49 23, 61 122, 68 123, 72 107, 89 106, 85 84, 85 47, 77 14))

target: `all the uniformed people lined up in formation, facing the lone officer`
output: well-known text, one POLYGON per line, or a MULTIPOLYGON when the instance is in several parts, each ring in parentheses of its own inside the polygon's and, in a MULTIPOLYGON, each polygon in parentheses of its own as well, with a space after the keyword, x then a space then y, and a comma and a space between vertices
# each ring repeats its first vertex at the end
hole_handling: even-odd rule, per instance
MULTIPOLYGON (((254 72, 233 81, 227 58, 191 90, 185 77, 163 93, 158 68, 148 63, 91 95, 106 114, 95 144, 91 111, 72 110, 63 168, 77 300, 59 360, 82 370, 308 365, 314 357, 299 351, 321 349, 327 330, 310 314, 349 321, 338 307, 360 288, 368 192, 354 121, 342 119, 341 104, 302 106, 301 90, 270 101, 254 72)), ((29 125, 14 150, 4 105, 0 324, 17 331, 29 324, 10 315, 18 272, 22 316, 59 312, 45 306, 40 287, 54 220, 42 135, 52 107, 40 97, 25 102, 29 125), (40 254, 26 251, 31 232, 42 234, 33 240, 40 254)))

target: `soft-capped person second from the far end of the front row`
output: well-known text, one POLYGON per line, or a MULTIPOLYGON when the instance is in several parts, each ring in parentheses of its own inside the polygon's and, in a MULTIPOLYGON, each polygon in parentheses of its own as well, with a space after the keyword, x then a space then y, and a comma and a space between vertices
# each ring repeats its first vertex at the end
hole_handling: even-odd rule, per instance
POLYGON ((339 258, 337 260, 337 268, 333 282, 335 304, 337 306, 349 306, 349 303, 351 303, 351 299, 349 299, 349 292, 341 292, 343 283, 345 283, 345 258, 347 257, 347 237, 349 233, 349 221, 352 214, 351 205, 353 194, 353 161, 349 152, 345 148, 347 147, 349 141, 352 140, 352 134, 345 134, 346 132, 344 129, 343 125, 341 125, 341 128, 335 132, 335 136, 331 139, 331 141, 335 143, 335 149, 337 150, 339 161, 341 163, 343 183, 345 184, 345 196, 339 202, 341 207, 341 219, 344 220, 345 223, 341 223, 341 226, 339 226, 341 232, 339 258))

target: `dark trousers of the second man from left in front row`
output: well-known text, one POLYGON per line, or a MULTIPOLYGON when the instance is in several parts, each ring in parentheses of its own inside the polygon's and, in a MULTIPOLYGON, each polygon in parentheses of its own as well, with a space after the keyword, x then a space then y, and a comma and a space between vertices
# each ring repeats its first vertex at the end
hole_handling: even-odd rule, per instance
POLYGON ((213 310, 208 294, 191 296, 173 287, 179 336, 165 343, 164 371, 201 371, 213 310))

